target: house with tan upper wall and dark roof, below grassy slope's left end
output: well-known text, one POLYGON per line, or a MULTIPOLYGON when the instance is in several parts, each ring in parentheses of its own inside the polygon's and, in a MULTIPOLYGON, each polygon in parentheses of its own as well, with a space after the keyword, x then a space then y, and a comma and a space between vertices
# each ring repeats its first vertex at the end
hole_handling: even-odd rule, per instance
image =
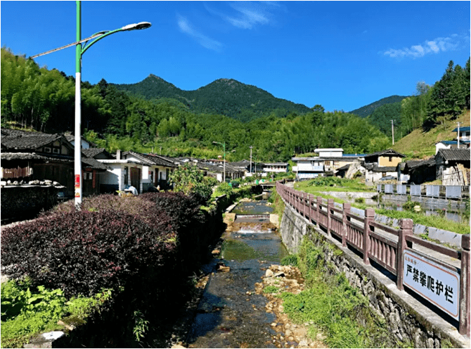
POLYGON ((384 177, 397 179, 397 165, 405 157, 392 149, 366 155, 363 165, 366 169, 365 181, 375 183, 384 177))

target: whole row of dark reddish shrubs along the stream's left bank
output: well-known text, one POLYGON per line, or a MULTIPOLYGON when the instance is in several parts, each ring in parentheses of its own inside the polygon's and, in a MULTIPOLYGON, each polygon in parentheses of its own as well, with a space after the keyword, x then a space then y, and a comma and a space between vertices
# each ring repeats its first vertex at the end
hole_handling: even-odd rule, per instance
POLYGON ((172 265, 169 258, 198 246, 204 222, 198 198, 183 193, 86 198, 82 210, 65 203, 2 229, 1 264, 11 277, 28 275, 33 286, 88 296, 133 285, 150 269, 158 274, 172 265))

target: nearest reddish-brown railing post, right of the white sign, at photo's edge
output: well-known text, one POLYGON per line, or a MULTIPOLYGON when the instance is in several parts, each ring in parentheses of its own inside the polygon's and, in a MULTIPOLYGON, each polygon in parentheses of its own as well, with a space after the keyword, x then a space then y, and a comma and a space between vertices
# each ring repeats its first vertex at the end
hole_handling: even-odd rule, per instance
POLYGON ((470 234, 466 234, 461 236, 460 334, 469 336, 470 327, 470 234))

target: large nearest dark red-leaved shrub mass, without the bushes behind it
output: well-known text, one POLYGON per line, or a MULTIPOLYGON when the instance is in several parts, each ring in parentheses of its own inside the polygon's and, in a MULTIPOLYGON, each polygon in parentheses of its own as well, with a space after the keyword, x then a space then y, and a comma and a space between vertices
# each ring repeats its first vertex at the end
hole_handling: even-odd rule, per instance
POLYGON ((175 248, 167 214, 150 210, 158 213, 152 222, 119 210, 72 210, 2 229, 1 264, 70 296, 116 288, 175 248))

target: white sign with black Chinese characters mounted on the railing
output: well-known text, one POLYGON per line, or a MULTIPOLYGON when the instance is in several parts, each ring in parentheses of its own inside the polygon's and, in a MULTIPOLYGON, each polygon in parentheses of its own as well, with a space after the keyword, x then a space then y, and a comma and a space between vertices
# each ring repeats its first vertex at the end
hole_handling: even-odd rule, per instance
POLYGON ((421 253, 404 251, 404 285, 455 319, 459 317, 460 274, 421 253))

